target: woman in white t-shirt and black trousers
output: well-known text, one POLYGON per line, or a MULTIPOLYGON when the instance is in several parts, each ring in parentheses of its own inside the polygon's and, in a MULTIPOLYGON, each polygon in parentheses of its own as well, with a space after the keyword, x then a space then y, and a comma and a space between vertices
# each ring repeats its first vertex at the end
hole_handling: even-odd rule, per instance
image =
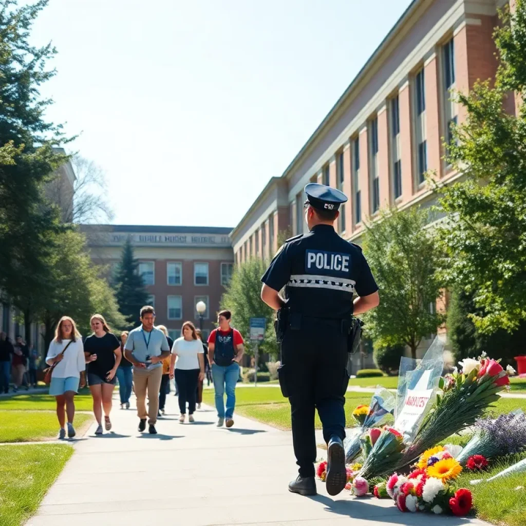
POLYGON ((205 359, 203 344, 197 338, 194 324, 185 321, 181 333, 183 337, 177 338, 171 348, 170 378, 175 377, 179 388, 179 422, 183 423, 186 417, 186 402, 188 421, 194 422, 197 382, 205 377, 205 359))

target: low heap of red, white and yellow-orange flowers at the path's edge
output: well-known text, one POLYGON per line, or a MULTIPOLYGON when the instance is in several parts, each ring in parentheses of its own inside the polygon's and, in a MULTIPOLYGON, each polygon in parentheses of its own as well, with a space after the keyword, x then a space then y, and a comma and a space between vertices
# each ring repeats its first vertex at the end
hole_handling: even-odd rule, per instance
POLYGON ((390 497, 400 511, 467 515, 472 506, 471 492, 454 486, 462 471, 451 454, 457 452, 457 448, 437 446, 424 451, 417 469, 409 476, 393 473, 386 483, 375 486, 373 494, 377 498, 390 497))

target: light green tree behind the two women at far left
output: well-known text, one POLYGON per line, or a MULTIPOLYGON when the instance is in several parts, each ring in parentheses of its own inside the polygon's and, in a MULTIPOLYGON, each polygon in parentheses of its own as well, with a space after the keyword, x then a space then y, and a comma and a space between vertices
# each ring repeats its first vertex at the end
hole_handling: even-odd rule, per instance
POLYGON ((93 265, 85 237, 68 230, 58 234, 54 243, 57 249, 48 259, 52 278, 37 311, 45 327, 45 349, 62 316, 71 316, 83 335, 91 331, 89 318, 96 312, 102 314, 112 328, 124 329, 126 320, 118 310, 113 289, 103 277, 105 269, 93 265))

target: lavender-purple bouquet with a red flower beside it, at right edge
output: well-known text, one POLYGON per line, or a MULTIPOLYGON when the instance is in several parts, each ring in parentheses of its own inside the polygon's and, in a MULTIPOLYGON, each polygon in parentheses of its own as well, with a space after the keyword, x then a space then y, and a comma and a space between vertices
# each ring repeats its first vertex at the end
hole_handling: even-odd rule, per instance
POLYGON ((519 453, 526 448, 526 417, 518 409, 497 419, 480 418, 475 434, 456 457, 468 469, 483 469, 491 457, 519 453))

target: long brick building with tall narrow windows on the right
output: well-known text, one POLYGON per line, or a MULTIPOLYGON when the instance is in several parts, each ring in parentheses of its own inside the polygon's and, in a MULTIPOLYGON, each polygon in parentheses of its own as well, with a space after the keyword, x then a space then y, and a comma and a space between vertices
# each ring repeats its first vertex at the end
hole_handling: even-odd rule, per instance
MULTIPOLYGON (((280 232, 307 230, 303 188, 341 189, 337 230, 360 243, 363 219, 380 208, 431 206, 423 174, 458 180, 443 160, 450 123, 462 108, 450 90, 467 92, 497 70, 492 40, 502 0, 414 0, 280 177, 272 177, 231 232, 237 263, 271 257, 280 232)), ((513 0, 511 0, 513 7, 513 0)), ((507 110, 516 111, 513 94, 507 110)), ((425 345, 425 342, 424 342, 425 345)))

